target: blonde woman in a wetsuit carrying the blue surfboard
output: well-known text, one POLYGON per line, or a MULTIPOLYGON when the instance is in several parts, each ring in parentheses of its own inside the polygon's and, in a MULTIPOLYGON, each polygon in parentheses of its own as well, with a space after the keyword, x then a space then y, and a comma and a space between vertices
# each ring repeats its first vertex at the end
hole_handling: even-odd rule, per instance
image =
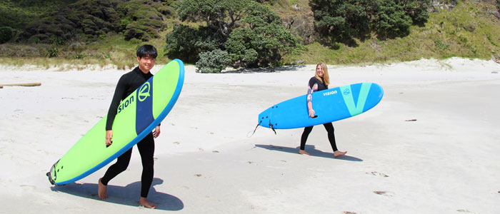
MULTIPOLYGON (((314 109, 312 108, 312 93, 314 91, 322 91, 328 89, 329 83, 330 83, 330 78, 328 75, 328 69, 326 68, 326 64, 318 63, 316 65, 315 75, 309 80, 309 90, 307 91, 307 108, 309 110, 309 116, 311 118, 313 118, 315 115, 314 109)), ((330 141, 331 148, 334 150, 334 157, 344 156, 347 152, 339 151, 335 143, 334 125, 330 122, 330 123, 324 123, 323 126, 326 128, 326 131, 328 132, 328 140, 330 141)), ((309 133, 311 133, 312 128, 313 126, 308 126, 304 128, 304 132, 302 133, 301 136, 299 154, 308 156, 311 155, 305 151, 305 148, 306 148, 307 137, 309 136, 309 133)))

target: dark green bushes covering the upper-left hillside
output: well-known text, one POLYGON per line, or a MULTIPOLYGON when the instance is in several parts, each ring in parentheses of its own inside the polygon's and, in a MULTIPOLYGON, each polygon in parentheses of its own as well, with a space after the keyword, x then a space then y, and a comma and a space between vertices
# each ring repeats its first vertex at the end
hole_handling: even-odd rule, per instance
POLYGON ((31 21, 19 40, 48 44, 53 38, 96 39, 111 32, 123 34, 126 40, 149 41, 159 37, 159 31, 166 28, 164 20, 172 11, 169 4, 169 1, 153 0, 75 1, 31 21))

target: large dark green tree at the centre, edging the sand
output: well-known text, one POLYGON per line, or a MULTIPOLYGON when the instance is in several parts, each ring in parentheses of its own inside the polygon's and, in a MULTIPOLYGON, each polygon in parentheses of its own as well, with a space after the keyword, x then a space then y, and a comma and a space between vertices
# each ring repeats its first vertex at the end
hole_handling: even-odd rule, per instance
POLYGON ((197 29, 175 26, 166 35, 166 54, 170 58, 191 63, 201 58, 204 63, 198 64, 206 66, 226 62, 230 57, 229 64, 236 67, 270 66, 301 47, 296 36, 285 29, 281 18, 256 1, 184 0, 177 5, 177 13, 182 21, 203 22, 206 26, 197 29), (218 60, 206 58, 216 53, 227 54, 218 60))

